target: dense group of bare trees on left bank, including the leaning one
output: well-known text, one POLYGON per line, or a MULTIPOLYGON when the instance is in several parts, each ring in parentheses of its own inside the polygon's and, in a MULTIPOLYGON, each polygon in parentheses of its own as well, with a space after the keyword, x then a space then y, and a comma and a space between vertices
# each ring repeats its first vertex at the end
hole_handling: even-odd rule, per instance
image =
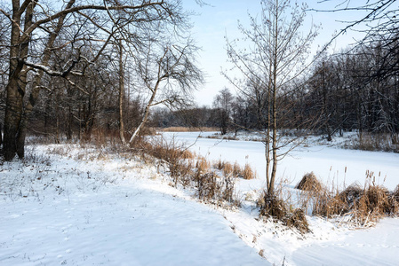
POLYGON ((28 130, 59 140, 118 129, 125 144, 149 107, 184 106, 202 82, 190 15, 180 0, 2 2, 4 159, 24 157, 28 130))

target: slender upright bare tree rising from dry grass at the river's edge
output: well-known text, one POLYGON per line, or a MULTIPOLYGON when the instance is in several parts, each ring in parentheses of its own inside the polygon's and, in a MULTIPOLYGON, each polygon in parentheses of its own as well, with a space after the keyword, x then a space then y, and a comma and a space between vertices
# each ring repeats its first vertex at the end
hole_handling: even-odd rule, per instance
MULTIPOLYGON (((260 21, 250 16, 249 29, 239 25, 243 40, 249 43, 239 49, 236 43, 227 41, 227 55, 235 68, 244 76, 244 82, 251 87, 264 91, 266 121, 266 177, 267 192, 274 195, 277 160, 286 153, 278 153, 291 142, 283 142, 277 134, 279 129, 279 111, 286 108, 284 96, 296 90, 293 81, 303 74, 309 45, 315 38, 315 27, 302 35, 306 6, 291 5, 288 0, 263 0, 260 21)), ((241 39, 242 40, 242 39, 241 39)), ((226 74, 227 75, 227 74, 226 74)), ((238 90, 243 83, 228 77, 238 90)), ((281 115, 280 115, 281 117, 281 115)), ((263 120, 263 118, 261 119, 263 120)))

